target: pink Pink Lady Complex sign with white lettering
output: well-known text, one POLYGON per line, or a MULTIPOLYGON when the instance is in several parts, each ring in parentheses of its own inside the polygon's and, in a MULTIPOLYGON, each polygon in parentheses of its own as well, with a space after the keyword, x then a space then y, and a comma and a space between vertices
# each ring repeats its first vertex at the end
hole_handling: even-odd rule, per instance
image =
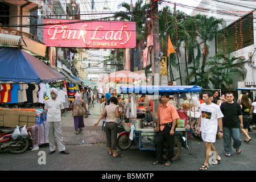
POLYGON ((134 48, 136 23, 44 19, 44 43, 52 47, 134 48))

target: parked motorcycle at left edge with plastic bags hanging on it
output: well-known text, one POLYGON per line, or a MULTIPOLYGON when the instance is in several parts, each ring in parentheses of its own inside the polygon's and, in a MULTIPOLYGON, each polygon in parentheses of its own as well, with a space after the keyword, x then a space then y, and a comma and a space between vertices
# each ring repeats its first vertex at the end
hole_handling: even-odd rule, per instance
MULTIPOLYGON (((30 140, 32 139, 31 135, 31 127, 27 127, 27 137, 23 138, 22 136, 13 139, 11 136, 14 133, 14 128, 2 128, 0 129, 0 149, 4 150, 8 148, 11 153, 13 154, 20 154, 27 150, 28 146, 30 145, 30 140)), ((21 127, 19 127, 19 130, 21 127)))

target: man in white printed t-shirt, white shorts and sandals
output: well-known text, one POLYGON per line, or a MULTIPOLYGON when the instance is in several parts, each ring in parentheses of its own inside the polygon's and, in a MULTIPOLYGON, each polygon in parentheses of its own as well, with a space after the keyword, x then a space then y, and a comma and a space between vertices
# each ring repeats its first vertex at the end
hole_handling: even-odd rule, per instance
POLYGON ((212 97, 210 92, 203 93, 204 103, 200 106, 200 117, 196 127, 196 133, 199 134, 201 130, 201 137, 205 142, 205 161, 203 166, 199 168, 200 171, 207 171, 209 169, 209 159, 212 156, 212 152, 214 152, 213 154, 216 157, 216 160, 212 164, 217 165, 221 163, 221 157, 218 155, 213 143, 216 142, 218 127, 220 129, 218 136, 219 138, 223 137, 221 118, 224 115, 221 113, 220 107, 212 103, 210 97, 212 97))

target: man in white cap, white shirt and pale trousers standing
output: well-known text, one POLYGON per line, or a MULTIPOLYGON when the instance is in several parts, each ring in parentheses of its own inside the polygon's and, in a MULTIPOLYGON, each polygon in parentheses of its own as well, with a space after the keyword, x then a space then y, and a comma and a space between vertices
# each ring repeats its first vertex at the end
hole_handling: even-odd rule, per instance
POLYGON ((47 133, 49 139, 49 154, 55 152, 55 138, 56 135, 57 146, 61 154, 69 154, 65 150, 61 131, 61 110, 64 109, 63 102, 57 98, 58 91, 55 88, 50 89, 51 98, 46 101, 44 109, 47 111, 47 133))

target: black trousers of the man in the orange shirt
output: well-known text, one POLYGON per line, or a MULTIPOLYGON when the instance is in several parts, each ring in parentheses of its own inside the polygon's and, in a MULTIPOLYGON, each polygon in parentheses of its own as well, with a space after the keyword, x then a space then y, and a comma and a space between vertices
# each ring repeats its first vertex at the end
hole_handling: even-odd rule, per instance
POLYGON ((167 160, 172 162, 172 157, 174 155, 174 136, 170 135, 170 127, 165 126, 163 131, 159 131, 158 139, 156 141, 156 160, 160 163, 164 163, 163 161, 163 146, 166 141, 168 147, 168 154, 166 156, 167 160))

